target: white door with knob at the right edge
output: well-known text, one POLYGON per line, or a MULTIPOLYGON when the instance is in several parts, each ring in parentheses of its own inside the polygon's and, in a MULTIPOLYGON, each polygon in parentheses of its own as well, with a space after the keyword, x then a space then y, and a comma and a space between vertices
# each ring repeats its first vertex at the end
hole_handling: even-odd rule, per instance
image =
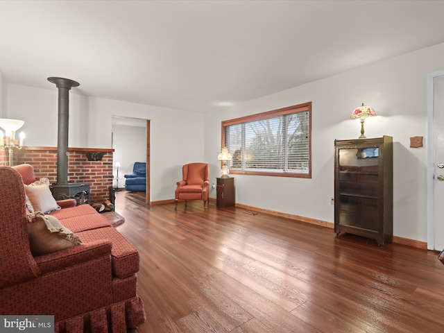
POLYGON ((444 249, 444 75, 434 77, 434 248, 444 249))

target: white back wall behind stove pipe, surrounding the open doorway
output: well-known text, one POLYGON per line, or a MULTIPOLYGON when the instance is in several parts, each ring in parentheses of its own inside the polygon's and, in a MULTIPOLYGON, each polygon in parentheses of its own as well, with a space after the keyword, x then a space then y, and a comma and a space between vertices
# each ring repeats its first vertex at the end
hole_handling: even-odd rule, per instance
MULTIPOLYGON (((202 114, 88 97, 76 89, 69 94, 69 147, 111 148, 112 116, 149 119, 150 200, 174 198, 182 165, 203 160, 202 114)), ((57 146, 57 108, 52 83, 48 89, 8 85, 8 117, 25 121, 26 146, 57 146)))

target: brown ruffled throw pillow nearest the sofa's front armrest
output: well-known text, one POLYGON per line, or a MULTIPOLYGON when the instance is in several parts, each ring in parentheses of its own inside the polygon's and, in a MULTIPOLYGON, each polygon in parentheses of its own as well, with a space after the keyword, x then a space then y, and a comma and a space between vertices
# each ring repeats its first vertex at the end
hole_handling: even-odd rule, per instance
POLYGON ((42 212, 28 215, 28 238, 34 256, 82 244, 78 235, 65 228, 56 217, 42 212))

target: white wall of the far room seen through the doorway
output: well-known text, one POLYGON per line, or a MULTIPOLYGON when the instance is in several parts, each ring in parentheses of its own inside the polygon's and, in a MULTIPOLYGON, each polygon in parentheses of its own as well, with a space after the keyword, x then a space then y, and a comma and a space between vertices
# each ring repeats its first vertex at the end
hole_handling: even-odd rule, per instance
MULTIPOLYGON (((124 187, 126 173, 133 173, 134 162, 146 162, 146 127, 112 124, 113 159, 120 162, 119 187, 124 187)), ((114 167, 114 178, 117 177, 114 167)), ((114 186, 116 183, 114 182, 114 186)))

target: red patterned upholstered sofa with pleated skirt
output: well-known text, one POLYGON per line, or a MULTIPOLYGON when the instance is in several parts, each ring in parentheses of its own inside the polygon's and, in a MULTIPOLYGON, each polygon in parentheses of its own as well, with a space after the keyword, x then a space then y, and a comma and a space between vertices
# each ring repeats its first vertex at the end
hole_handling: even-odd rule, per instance
POLYGON ((126 333, 144 323, 139 253, 91 206, 50 213, 83 244, 33 257, 22 180, 30 169, 17 169, 24 178, 0 167, 0 314, 53 315, 56 333, 126 333))

